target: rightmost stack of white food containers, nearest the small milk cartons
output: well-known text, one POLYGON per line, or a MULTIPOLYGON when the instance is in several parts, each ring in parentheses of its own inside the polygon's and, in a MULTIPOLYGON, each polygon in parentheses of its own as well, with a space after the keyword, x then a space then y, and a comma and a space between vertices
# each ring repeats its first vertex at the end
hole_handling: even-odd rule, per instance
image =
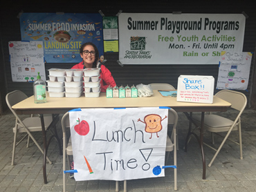
POLYGON ((84 95, 85 97, 100 96, 100 68, 84 69, 84 95))

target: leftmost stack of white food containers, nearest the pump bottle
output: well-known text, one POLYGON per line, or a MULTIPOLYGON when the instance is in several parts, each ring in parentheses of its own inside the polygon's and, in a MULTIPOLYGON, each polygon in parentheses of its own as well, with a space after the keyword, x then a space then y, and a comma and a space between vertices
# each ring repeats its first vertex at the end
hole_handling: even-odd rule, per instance
POLYGON ((64 80, 65 80, 65 70, 58 68, 51 68, 49 71, 49 79, 47 82, 47 88, 49 97, 64 97, 65 96, 65 88, 64 88, 64 80))

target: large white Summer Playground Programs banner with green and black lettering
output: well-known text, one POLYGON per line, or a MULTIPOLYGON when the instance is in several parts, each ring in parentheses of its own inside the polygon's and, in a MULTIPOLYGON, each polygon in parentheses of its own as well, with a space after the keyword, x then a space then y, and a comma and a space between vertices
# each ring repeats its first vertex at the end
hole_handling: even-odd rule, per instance
POLYGON ((219 64, 221 51, 241 52, 242 14, 121 13, 122 64, 219 64))

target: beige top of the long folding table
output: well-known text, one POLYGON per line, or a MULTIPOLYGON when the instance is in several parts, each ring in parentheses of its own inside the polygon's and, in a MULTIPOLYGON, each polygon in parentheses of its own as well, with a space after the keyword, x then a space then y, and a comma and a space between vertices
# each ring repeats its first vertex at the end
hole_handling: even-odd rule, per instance
POLYGON ((177 102, 176 97, 163 97, 158 90, 154 90, 152 97, 136 98, 107 98, 106 93, 100 93, 100 97, 47 97, 44 104, 35 104, 34 97, 28 97, 22 102, 12 106, 19 114, 30 113, 66 113, 73 108, 118 108, 118 107, 157 107, 169 106, 179 112, 202 112, 202 111, 226 111, 230 103, 213 98, 212 104, 199 104, 190 102, 177 102))

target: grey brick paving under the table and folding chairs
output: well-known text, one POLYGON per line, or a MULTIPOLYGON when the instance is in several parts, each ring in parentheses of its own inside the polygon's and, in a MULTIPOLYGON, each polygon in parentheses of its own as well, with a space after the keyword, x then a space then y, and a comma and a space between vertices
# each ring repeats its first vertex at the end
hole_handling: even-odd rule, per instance
MULTIPOLYGON (((224 113, 226 117, 235 117, 234 111, 224 113)), ((15 166, 11 166, 12 157, 12 127, 15 117, 7 112, 0 116, 0 191, 62 191, 62 155, 53 141, 48 149, 48 157, 53 164, 47 164, 48 184, 44 184, 42 175, 42 153, 37 146, 30 143, 26 148, 26 140, 17 146, 15 166)), ((178 190, 179 191, 256 191, 256 111, 246 109, 241 116, 244 160, 239 159, 239 146, 227 141, 211 167, 206 169, 206 180, 202 179, 202 163, 199 145, 195 139, 189 143, 188 152, 183 146, 188 131, 188 120, 179 113, 179 151, 178 190)), ((60 138, 62 130, 57 125, 60 138)), ((35 137, 42 144, 41 133, 35 137)), ((237 132, 231 133, 238 141, 237 132)), ((21 135, 19 135, 21 138, 21 135)), ((210 133, 205 132, 204 141, 210 141, 210 133)), ((218 146, 221 139, 216 137, 218 146)), ((210 162, 214 151, 204 146, 206 164, 210 162)), ((172 164, 172 155, 167 164, 172 164)), ((84 181, 75 182, 68 177, 67 191, 115 191, 114 181, 84 181)), ((119 182, 123 191, 123 183, 119 182)), ((174 191, 173 170, 166 169, 165 177, 147 178, 127 181, 127 191, 153 192, 174 191)))

